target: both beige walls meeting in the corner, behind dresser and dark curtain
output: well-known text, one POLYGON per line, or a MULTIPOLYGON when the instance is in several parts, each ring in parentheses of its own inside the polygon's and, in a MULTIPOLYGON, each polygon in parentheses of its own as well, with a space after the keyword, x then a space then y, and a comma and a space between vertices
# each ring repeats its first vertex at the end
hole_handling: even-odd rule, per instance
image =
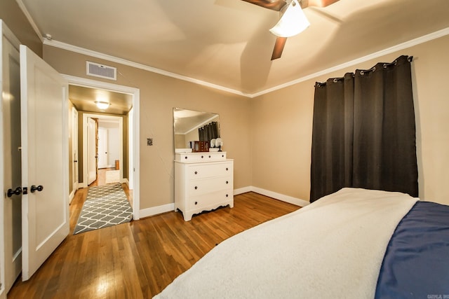
POLYGON ((62 74, 81 77, 86 77, 85 60, 116 66, 123 75, 118 84, 140 88, 140 191, 145 209, 173 202, 173 107, 220 113, 225 150, 236 162, 235 188, 255 186, 309 200, 315 81, 413 55, 420 197, 449 204, 443 187, 449 179, 445 173, 449 141, 443 131, 449 127, 449 118, 443 116, 449 109, 444 73, 449 65, 437 58, 444 57, 448 48, 449 37, 445 36, 255 99, 49 46, 44 46, 44 58, 62 74), (154 146, 146 146, 147 137, 154 139, 154 146))

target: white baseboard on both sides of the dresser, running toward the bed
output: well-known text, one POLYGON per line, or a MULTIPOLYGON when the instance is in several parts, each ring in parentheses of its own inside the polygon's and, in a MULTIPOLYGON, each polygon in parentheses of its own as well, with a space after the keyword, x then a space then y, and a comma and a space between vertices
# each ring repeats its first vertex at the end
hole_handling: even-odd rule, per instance
MULTIPOLYGON (((243 193, 247 193, 247 192, 255 192, 255 193, 259 193, 268 197, 272 197, 276 200, 281 200, 283 202, 288 202, 290 204, 295 204, 299 207, 305 207, 307 206, 307 204, 310 204, 310 202, 308 202, 307 200, 300 200, 299 198, 296 197, 291 197, 288 195, 283 195, 281 193, 276 193, 270 190, 265 190, 262 188, 257 188, 254 186, 247 186, 247 187, 243 187, 243 188, 239 188, 239 189, 234 189, 234 195, 239 195, 239 194, 243 194, 243 193)), ((149 216, 154 216, 157 214, 162 214, 165 213, 167 211, 174 211, 175 210, 175 204, 163 204, 162 206, 158 206, 158 207, 152 207, 152 208, 148 208, 148 209, 141 209, 139 211, 140 214, 140 218, 143 217, 149 217, 149 216)))

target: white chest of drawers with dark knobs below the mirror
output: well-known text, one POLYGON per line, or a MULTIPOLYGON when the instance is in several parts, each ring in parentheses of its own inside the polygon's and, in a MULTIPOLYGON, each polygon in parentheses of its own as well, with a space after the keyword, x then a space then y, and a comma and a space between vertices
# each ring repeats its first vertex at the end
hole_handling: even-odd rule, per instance
POLYGON ((234 207, 234 160, 226 152, 175 154, 175 211, 185 221, 228 204, 234 207))

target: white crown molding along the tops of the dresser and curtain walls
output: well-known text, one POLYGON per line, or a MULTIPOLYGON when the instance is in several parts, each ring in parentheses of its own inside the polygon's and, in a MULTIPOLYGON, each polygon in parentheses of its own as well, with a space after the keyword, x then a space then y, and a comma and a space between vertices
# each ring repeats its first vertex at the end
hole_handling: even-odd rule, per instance
MULTIPOLYGON (((17 1, 20 1, 20 0, 17 0, 17 1)), ((145 71, 151 71, 151 72, 156 73, 156 74, 161 74, 163 76, 169 76, 169 77, 172 77, 172 78, 177 78, 177 79, 180 79, 180 80, 183 80, 183 81, 187 81, 187 82, 190 82, 190 83, 195 83, 195 84, 207 86, 209 88, 214 88, 216 90, 222 90, 222 91, 225 91, 225 92, 230 92, 230 93, 233 93, 235 95, 241 95, 243 97, 254 98, 254 97, 259 97, 261 95, 265 95, 265 94, 267 94, 269 92, 274 92, 276 90, 280 90, 282 88, 287 88, 288 86, 295 85, 297 83, 301 83, 301 82, 310 80, 312 78, 316 78, 316 77, 319 77, 319 76, 323 76, 325 74, 329 74, 329 73, 331 73, 333 71, 339 71, 340 69, 345 69, 347 67, 352 67, 352 66, 354 66, 356 64, 360 64, 360 63, 366 62, 368 60, 373 60, 373 59, 375 59, 377 57, 381 57, 383 55, 394 53, 394 52, 396 52, 398 50, 404 50, 406 48, 410 48, 412 46, 419 45, 420 43, 425 43, 427 41, 438 39, 438 38, 446 36, 448 34, 449 34, 449 27, 447 27, 445 29, 438 30, 436 32, 432 32, 431 34, 426 34, 424 36, 420 36, 417 39, 412 39, 412 40, 406 41, 404 43, 399 43, 396 46, 392 46, 390 48, 386 48, 384 50, 380 50, 380 51, 377 51, 375 53, 371 53, 370 55, 366 55, 366 56, 357 58, 356 60, 351 60, 351 61, 345 62, 343 64, 338 64, 335 67, 330 67, 328 69, 323 69, 322 71, 317 71, 314 74, 309 74, 307 76, 303 76, 301 78, 297 78, 296 80, 290 81, 288 83, 283 83, 281 85, 275 86, 274 88, 269 88, 267 90, 262 90, 260 92, 256 92, 256 93, 253 93, 253 94, 244 93, 244 92, 241 92, 239 90, 233 90, 231 88, 226 88, 226 87, 221 86, 221 85, 216 85, 216 84, 213 84, 213 83, 208 83, 206 81, 197 80, 195 78, 182 76, 180 74, 175 74, 175 73, 172 73, 170 71, 164 71, 163 69, 156 69, 155 67, 149 67, 149 66, 147 66, 145 64, 140 64, 138 62, 132 62, 130 60, 124 60, 124 59, 119 58, 119 57, 114 57, 112 55, 106 55, 106 54, 103 54, 103 53, 95 52, 93 50, 88 50, 86 48, 72 46, 72 45, 70 45, 68 43, 62 43, 60 41, 55 41, 55 40, 49 41, 47 39, 44 39, 43 40, 43 44, 44 45, 48 45, 48 46, 53 46, 55 48, 61 48, 61 49, 64 49, 64 50, 69 50, 69 51, 72 51, 74 53, 79 53, 79 54, 83 54, 83 55, 88 55, 88 56, 100 58, 102 60, 108 60, 108 61, 111 61, 111 62, 124 64, 124 65, 127 65, 129 67, 135 67, 135 68, 138 68, 138 69, 143 69, 145 71)))

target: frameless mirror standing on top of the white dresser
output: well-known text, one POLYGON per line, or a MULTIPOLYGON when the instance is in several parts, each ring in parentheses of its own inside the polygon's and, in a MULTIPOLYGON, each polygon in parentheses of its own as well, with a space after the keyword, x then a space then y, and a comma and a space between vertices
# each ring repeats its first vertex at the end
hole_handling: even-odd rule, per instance
POLYGON ((175 152, 191 151, 191 141, 209 141, 210 144, 220 137, 220 118, 216 113, 173 108, 173 130, 175 152))

